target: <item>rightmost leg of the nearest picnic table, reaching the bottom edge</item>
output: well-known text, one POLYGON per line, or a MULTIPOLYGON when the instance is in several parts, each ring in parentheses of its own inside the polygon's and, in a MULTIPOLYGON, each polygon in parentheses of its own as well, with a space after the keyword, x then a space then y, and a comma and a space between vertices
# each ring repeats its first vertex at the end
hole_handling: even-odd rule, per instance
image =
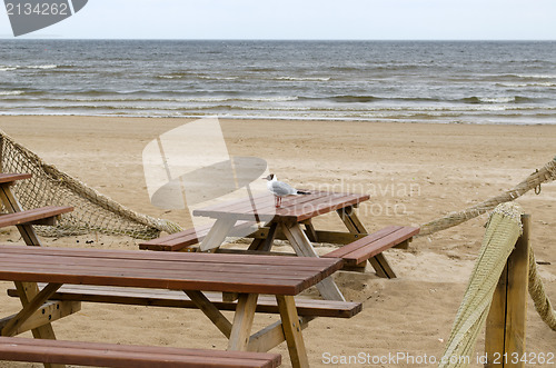
POLYGON ((296 301, 291 296, 276 296, 278 309, 284 328, 284 335, 288 345, 289 357, 292 367, 309 367, 309 358, 305 349, 301 322, 297 315, 296 301))

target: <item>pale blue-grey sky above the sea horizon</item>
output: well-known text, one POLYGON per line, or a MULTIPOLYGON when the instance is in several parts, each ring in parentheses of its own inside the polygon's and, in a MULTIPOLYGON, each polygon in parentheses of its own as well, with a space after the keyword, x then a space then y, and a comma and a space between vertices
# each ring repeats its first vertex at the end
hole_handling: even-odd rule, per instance
POLYGON ((18 38, 556 40, 555 19, 556 0, 89 0, 18 38))

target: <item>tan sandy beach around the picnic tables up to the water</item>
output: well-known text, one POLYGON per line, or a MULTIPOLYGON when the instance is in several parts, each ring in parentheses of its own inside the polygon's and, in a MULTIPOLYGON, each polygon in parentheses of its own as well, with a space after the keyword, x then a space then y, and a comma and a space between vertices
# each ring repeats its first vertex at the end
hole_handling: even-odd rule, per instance
MULTIPOLYGON (((146 190, 141 152, 159 135, 190 120, 110 117, 0 117, 0 129, 48 163, 131 209, 188 226, 179 210, 152 206, 146 190)), ((376 123, 359 121, 221 120, 231 156, 267 160, 281 180, 299 188, 365 192, 358 209, 369 231, 387 225, 421 225, 507 190, 556 155, 556 126, 376 123)), ((533 216, 532 242, 545 287, 556 302, 556 183, 517 200, 533 216)), ((397 279, 339 272, 346 299, 364 302, 351 319, 320 318, 304 331, 312 367, 328 358, 388 356, 439 358, 449 337, 484 235, 487 217, 420 237, 408 250, 388 250, 397 279)), ((334 213, 316 226, 342 230, 334 213)), ((91 236, 44 238, 56 247, 138 249, 136 239, 91 236)), ((0 241, 23 243, 16 228, 0 241)), ((319 252, 327 251, 319 247, 319 252)), ((0 282, 2 315, 18 310, 0 282)), ((312 295, 311 296, 316 296, 312 295)), ((527 351, 556 354, 556 332, 539 319, 529 300, 527 351)), ((268 317, 271 318, 271 317, 268 317)), ((256 321, 262 324, 266 320, 256 321)), ((168 308, 83 304, 75 316, 53 324, 59 339, 224 349, 226 339, 200 312, 168 308)), ((31 336, 29 332, 24 336, 31 336)), ((484 334, 476 354, 483 354, 484 334)), ((289 357, 285 344, 272 351, 289 357)), ((363 367, 366 365, 344 365, 363 367)), ((428 367, 400 361, 379 367, 428 367)), ((543 367, 544 365, 537 365, 543 367)), ((0 362, 0 367, 40 365, 0 362)), ((480 367, 471 364, 471 367, 480 367)))

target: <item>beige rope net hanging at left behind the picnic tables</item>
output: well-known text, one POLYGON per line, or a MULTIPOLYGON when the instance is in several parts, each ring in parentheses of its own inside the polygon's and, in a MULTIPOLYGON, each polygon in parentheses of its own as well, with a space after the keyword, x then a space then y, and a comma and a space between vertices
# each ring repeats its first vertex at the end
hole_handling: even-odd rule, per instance
POLYGON ((179 225, 138 213, 101 195, 83 182, 46 163, 39 156, 0 130, 0 171, 31 173, 16 182, 13 192, 23 209, 43 206, 72 206, 56 227, 36 226, 47 237, 101 232, 153 239, 161 231, 180 231, 179 225))

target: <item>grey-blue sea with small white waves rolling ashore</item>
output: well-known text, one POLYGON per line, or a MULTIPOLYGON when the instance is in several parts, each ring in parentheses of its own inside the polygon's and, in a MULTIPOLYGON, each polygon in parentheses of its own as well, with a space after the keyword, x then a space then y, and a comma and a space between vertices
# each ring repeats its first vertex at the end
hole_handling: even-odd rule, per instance
POLYGON ((4 39, 0 115, 555 125, 556 41, 4 39))

